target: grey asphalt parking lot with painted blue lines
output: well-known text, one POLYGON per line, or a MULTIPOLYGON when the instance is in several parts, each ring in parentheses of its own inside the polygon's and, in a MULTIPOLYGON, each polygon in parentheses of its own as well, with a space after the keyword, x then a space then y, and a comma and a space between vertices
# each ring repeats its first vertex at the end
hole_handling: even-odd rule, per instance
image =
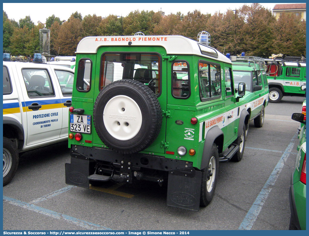
POLYGON ((214 199, 198 212, 167 207, 157 183, 78 188, 65 183, 67 143, 23 153, 3 187, 3 230, 287 230, 289 187, 303 97, 265 108, 262 128, 250 123, 240 162, 219 164, 214 199))

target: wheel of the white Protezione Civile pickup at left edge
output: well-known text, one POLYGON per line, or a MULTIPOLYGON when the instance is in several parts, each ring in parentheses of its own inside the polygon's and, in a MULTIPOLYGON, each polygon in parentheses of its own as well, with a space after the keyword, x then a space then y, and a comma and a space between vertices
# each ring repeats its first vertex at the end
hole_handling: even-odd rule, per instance
POLYGON ((18 166, 18 151, 14 143, 3 137, 3 186, 10 183, 18 166))

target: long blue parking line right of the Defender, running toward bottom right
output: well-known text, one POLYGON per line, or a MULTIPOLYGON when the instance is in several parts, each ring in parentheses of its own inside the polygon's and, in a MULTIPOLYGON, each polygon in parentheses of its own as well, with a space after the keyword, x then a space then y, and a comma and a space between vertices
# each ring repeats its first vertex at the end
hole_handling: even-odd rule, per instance
POLYGON ((278 161, 277 165, 273 169, 273 172, 270 174, 269 178, 267 179, 264 187, 262 188, 259 195, 256 197, 254 203, 252 204, 251 208, 249 209, 247 215, 243 219, 243 222, 241 222, 239 226, 239 230, 251 230, 252 225, 256 221, 257 216, 260 214, 260 211, 270 193, 272 190, 272 186, 275 184, 278 175, 280 174, 286 159, 289 157, 291 150, 294 146, 294 139, 297 137, 297 133, 293 136, 293 138, 290 141, 290 144, 286 147, 286 150, 282 154, 280 160, 278 161))

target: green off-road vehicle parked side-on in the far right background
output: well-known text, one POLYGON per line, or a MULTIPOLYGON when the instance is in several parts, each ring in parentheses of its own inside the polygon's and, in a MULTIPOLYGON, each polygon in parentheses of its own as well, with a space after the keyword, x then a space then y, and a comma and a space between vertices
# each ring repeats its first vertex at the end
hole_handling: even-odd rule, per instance
POLYGON ((305 94, 301 90, 306 85, 306 58, 284 57, 265 59, 269 85, 269 102, 278 103, 285 95, 305 94))

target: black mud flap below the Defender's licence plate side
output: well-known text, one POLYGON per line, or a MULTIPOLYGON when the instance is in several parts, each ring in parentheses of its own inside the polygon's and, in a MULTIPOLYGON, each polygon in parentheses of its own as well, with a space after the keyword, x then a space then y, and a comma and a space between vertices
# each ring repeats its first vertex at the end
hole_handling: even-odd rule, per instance
POLYGON ((71 157, 71 163, 66 163, 66 184, 89 188, 89 159, 71 157))

